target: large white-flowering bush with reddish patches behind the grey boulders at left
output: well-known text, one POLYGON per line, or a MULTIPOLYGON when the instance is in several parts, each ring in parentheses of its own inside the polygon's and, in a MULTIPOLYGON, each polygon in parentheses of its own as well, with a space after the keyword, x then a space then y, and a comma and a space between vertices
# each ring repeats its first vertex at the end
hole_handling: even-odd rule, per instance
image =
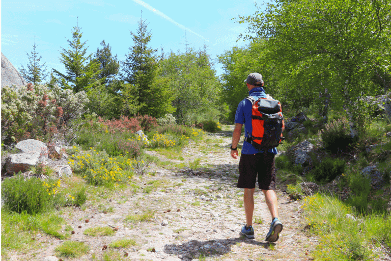
POLYGON ((84 93, 73 94, 58 86, 28 84, 18 91, 2 89, 2 141, 6 145, 32 138, 48 141, 53 137, 72 137, 72 121, 80 117, 84 93))

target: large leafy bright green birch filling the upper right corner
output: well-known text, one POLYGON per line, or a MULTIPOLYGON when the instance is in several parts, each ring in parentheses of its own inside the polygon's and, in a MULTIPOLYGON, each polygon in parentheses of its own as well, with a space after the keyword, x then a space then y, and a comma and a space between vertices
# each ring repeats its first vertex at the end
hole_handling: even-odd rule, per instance
POLYGON ((248 23, 248 34, 240 37, 268 39, 273 58, 291 77, 322 85, 334 106, 344 106, 355 136, 363 126, 355 124, 357 99, 379 93, 370 81, 376 68, 389 72, 390 13, 387 0, 277 0, 238 21, 248 23))

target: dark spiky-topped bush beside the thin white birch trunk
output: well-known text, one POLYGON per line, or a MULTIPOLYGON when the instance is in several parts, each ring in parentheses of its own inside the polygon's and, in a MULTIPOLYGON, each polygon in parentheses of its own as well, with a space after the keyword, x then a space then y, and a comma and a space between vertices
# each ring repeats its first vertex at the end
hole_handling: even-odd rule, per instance
POLYGON ((353 142, 350 136, 349 123, 345 118, 326 124, 325 128, 318 134, 323 141, 324 148, 332 153, 346 149, 353 142))

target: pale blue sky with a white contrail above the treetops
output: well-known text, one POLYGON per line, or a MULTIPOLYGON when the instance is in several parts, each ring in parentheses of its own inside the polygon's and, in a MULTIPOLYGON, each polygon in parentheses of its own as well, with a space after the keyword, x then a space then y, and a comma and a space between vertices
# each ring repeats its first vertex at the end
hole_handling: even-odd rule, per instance
MULTIPOLYGON (((258 3, 259 5, 261 3, 258 3)), ((190 47, 207 45, 212 59, 233 46, 245 32, 246 25, 235 23, 231 18, 250 15, 256 11, 251 0, 3 0, 1 8, 2 53, 16 67, 28 63, 36 37, 37 51, 48 69, 65 72, 60 63, 60 50, 68 49, 72 28, 81 27, 82 40, 87 41, 89 53, 95 53, 105 40, 111 51, 125 60, 129 46, 133 45, 129 31, 136 32, 137 22, 147 20, 151 30, 150 47, 163 48, 165 54, 185 50, 185 35, 190 47)), ((215 63, 217 74, 222 71, 215 63)))

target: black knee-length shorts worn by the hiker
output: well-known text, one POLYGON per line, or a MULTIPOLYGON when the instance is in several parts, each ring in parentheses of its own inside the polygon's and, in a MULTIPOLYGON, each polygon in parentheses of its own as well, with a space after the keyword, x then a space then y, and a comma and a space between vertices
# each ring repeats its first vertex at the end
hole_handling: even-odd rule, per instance
POLYGON ((273 153, 241 154, 238 188, 254 189, 257 176, 261 190, 275 190, 275 163, 273 153))

